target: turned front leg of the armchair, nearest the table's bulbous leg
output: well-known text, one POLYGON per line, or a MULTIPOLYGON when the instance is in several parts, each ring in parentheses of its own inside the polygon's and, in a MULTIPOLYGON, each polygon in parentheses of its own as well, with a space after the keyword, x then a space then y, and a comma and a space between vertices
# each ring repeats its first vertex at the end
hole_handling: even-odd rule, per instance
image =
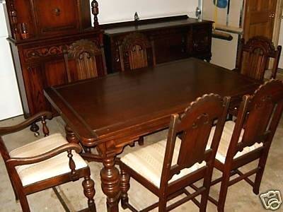
POLYGON ((96 194, 96 190, 94 189, 94 182, 90 176, 84 177, 83 194, 88 198, 89 211, 96 212, 96 203, 93 199, 94 194, 96 194))

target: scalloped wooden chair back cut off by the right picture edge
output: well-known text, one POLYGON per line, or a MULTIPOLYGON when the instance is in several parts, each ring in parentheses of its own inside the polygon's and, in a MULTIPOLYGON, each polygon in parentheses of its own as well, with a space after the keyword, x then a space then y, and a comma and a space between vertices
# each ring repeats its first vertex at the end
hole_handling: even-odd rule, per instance
POLYGON ((272 80, 260 86, 254 95, 245 95, 239 108, 227 158, 233 159, 243 148, 264 143, 269 150, 283 111, 283 83, 272 80), (241 131, 244 129, 241 141, 241 131))

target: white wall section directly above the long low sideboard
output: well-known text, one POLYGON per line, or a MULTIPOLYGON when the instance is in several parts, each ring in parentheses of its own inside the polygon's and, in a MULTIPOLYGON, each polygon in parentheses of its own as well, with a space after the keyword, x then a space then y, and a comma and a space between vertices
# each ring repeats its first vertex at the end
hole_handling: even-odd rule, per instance
POLYGON ((188 14, 195 17, 198 0, 98 0, 98 21, 114 23, 134 19, 137 11, 139 18, 158 18, 188 14))

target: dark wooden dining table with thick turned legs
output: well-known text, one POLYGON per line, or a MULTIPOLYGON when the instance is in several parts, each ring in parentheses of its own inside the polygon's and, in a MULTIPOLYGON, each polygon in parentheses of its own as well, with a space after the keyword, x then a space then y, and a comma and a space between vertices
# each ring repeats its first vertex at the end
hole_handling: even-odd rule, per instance
POLYGON ((140 136, 168 127, 171 114, 196 98, 231 96, 231 110, 259 81, 200 59, 183 59, 155 67, 112 73, 45 89, 45 97, 67 123, 69 142, 81 143, 84 156, 96 148, 103 162, 101 186, 108 211, 118 211, 120 174, 116 155, 140 136))

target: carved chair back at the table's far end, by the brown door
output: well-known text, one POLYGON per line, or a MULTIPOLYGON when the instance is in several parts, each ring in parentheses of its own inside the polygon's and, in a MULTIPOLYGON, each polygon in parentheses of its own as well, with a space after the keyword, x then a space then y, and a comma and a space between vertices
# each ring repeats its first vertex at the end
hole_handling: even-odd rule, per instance
POLYGON ((246 44, 242 39, 236 70, 246 76, 263 81, 265 70, 268 69, 268 62, 272 58, 274 61, 270 78, 276 78, 281 50, 281 46, 278 46, 276 50, 272 41, 267 37, 252 37, 246 44))

